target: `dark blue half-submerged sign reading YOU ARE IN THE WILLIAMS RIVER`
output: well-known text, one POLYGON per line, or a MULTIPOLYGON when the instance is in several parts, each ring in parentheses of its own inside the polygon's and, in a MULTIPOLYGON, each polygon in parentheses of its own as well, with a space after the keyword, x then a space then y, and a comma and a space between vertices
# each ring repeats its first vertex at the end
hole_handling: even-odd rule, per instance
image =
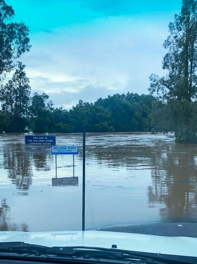
POLYGON ((55 145, 56 144, 56 136, 47 136, 47 135, 25 135, 25 144, 29 145, 46 145, 46 144, 51 144, 55 145))

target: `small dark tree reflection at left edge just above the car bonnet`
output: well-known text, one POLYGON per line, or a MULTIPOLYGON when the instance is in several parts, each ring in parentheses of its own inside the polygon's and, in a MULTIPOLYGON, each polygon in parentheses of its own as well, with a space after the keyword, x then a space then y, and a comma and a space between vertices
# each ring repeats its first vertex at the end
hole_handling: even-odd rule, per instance
POLYGON ((29 227, 27 224, 18 224, 12 222, 10 217, 10 207, 6 199, 2 199, 0 207, 0 231, 24 231, 28 232, 29 227))

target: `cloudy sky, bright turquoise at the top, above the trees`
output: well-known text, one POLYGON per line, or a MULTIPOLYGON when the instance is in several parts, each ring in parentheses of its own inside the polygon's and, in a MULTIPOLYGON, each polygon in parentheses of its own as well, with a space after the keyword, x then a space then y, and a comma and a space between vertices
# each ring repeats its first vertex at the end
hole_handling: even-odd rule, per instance
POLYGON ((115 93, 148 93, 151 73, 165 75, 162 47, 181 0, 6 0, 30 29, 22 55, 32 94, 55 107, 115 93))

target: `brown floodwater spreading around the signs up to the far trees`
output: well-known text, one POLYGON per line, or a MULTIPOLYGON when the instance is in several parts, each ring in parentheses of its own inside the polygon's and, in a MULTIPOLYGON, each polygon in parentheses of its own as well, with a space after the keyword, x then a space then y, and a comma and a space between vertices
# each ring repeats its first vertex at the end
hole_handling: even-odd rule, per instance
MULTIPOLYGON (((82 134, 58 134, 78 145, 78 185, 52 186, 49 146, 25 146, 24 134, 0 135, 0 230, 82 227, 82 134)), ((57 177, 71 177, 72 155, 57 156, 57 177)), ((85 228, 197 220, 197 145, 150 133, 86 135, 85 228)))

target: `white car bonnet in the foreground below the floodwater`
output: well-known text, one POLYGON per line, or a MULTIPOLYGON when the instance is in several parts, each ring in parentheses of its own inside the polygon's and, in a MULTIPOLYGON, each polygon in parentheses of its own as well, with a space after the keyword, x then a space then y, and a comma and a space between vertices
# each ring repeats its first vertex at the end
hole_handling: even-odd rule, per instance
POLYGON ((1 231, 0 242, 21 241, 53 246, 88 246, 197 257, 197 238, 162 237, 106 231, 1 231))

